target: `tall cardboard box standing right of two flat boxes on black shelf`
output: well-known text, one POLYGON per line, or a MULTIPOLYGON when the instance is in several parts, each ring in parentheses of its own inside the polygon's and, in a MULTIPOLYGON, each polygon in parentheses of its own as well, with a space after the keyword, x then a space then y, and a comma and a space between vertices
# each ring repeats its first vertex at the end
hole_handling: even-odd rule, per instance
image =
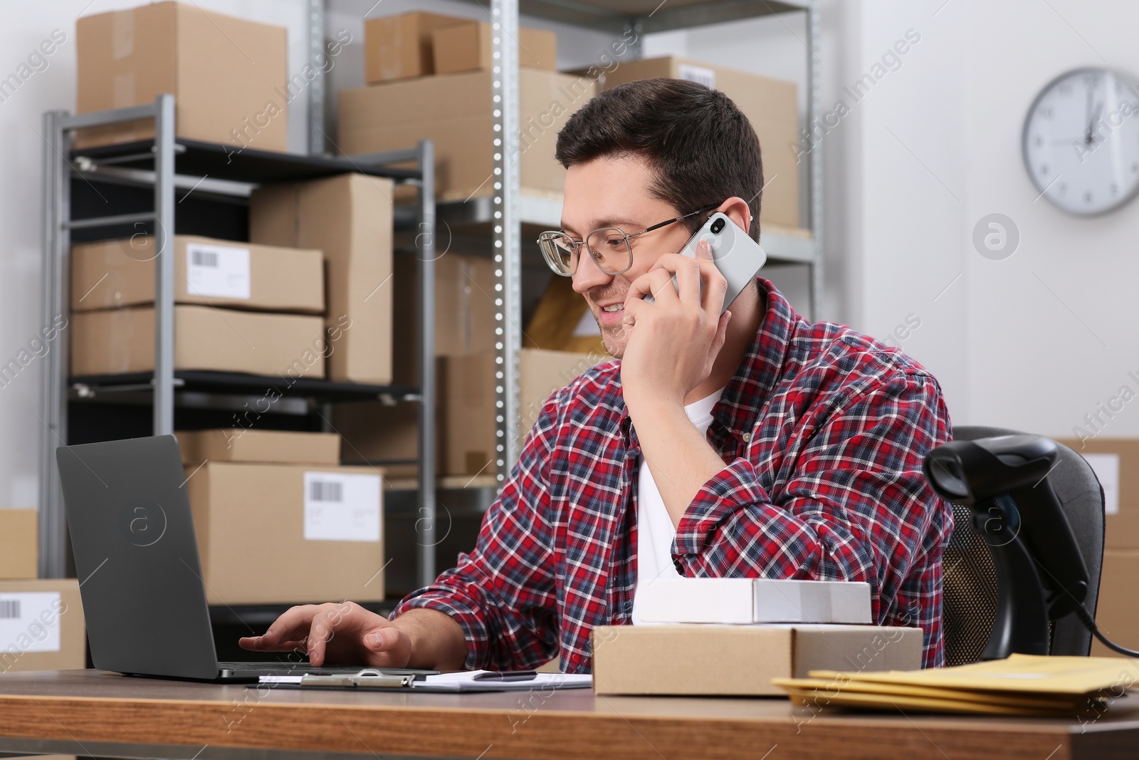
POLYGON ((249 196, 252 242, 325 254, 334 381, 392 382, 392 187, 388 179, 342 174, 262 186, 249 196))

